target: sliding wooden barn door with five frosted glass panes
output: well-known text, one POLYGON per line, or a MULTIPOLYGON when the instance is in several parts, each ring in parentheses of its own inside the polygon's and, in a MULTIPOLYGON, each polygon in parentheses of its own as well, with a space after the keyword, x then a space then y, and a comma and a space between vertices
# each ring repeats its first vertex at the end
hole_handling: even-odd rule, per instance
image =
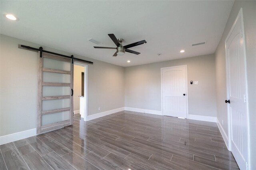
POLYGON ((72 59, 44 52, 38 58, 37 133, 44 133, 73 122, 74 72, 72 59))

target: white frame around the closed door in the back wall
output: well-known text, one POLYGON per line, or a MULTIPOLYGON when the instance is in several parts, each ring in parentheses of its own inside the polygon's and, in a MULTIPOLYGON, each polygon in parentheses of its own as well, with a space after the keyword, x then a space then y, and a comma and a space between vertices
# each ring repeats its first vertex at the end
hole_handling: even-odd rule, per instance
POLYGON ((176 67, 182 67, 185 66, 185 75, 186 75, 186 110, 187 110, 187 119, 188 119, 188 66, 187 65, 180 65, 180 66, 171 66, 171 67, 163 67, 160 68, 160 74, 161 74, 161 112, 162 115, 164 115, 164 109, 163 109, 163 80, 162 80, 162 70, 166 68, 176 68, 176 67))

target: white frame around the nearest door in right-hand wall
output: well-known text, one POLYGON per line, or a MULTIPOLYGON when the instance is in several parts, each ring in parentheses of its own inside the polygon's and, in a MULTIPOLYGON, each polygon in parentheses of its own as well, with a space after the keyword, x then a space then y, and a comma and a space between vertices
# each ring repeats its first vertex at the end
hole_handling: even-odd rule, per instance
MULTIPOLYGON (((238 12, 238 16, 236 17, 236 20, 234 21, 231 29, 230 29, 230 32, 228 33, 228 36, 226 37, 226 40, 225 40, 225 51, 226 51, 226 89, 227 89, 227 100, 229 98, 229 95, 230 95, 230 89, 229 89, 229 76, 228 76, 228 52, 227 52, 227 46, 226 46, 226 43, 228 41, 228 38, 230 37, 238 19, 241 18, 241 24, 242 24, 242 39, 243 39, 243 46, 244 46, 244 71, 245 71, 245 88, 246 88, 246 116, 247 116, 247 121, 248 121, 248 117, 249 117, 249 112, 248 112, 248 84, 247 84, 247 65, 246 65, 246 37, 245 37, 245 33, 244 33, 244 18, 243 18, 243 10, 242 8, 240 9, 240 11, 238 12)), ((227 110, 228 110, 228 150, 231 150, 231 115, 230 115, 230 106, 227 105, 227 110)), ((250 147, 250 133, 248 133, 250 131, 249 129, 249 124, 247 123, 247 141, 248 141, 248 145, 247 145, 247 150, 248 150, 248 160, 247 161, 250 161, 250 150, 249 150, 249 147, 250 147)), ((250 163, 248 162, 248 165, 250 165, 250 163)), ((248 167, 247 167, 248 168, 248 167)))

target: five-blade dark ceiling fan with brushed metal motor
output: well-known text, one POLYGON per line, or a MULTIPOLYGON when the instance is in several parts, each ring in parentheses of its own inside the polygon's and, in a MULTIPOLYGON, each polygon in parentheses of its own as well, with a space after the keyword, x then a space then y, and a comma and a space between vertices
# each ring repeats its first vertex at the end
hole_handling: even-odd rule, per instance
POLYGON ((147 43, 145 40, 142 40, 142 41, 138 41, 136 43, 132 43, 132 44, 123 46, 122 42, 124 41, 124 39, 117 39, 114 34, 108 34, 108 36, 112 39, 112 41, 114 41, 114 43, 116 44, 117 47, 94 47, 94 48, 96 48, 96 49, 116 49, 116 53, 114 53, 113 57, 116 57, 117 55, 124 55, 125 51, 128 53, 138 55, 138 54, 140 54, 139 52, 132 51, 128 48, 147 43))

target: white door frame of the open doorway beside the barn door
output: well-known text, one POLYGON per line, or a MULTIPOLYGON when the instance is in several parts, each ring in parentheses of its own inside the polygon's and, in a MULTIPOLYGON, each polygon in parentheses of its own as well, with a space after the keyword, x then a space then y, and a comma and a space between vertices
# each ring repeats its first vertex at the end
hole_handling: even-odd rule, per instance
POLYGON ((84 63, 78 63, 78 61, 74 61, 74 65, 79 65, 84 67, 84 93, 85 93, 84 121, 86 121, 88 119, 88 65, 84 63))

